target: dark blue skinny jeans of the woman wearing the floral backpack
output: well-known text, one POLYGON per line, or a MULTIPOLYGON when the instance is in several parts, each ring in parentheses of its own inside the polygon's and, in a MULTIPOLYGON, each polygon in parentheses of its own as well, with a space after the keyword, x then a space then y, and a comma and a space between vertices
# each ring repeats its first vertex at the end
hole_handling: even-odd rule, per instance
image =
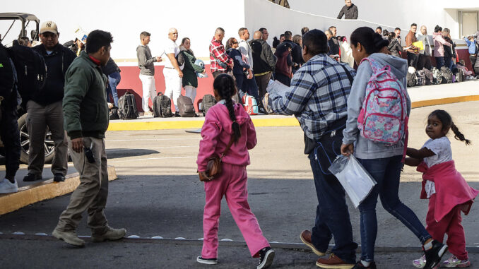
POLYGON ((397 155, 381 159, 358 159, 367 172, 377 181, 377 185, 359 206, 362 261, 374 261, 374 244, 377 236, 377 196, 381 198, 383 208, 396 219, 401 220, 403 225, 406 225, 420 239, 422 244, 431 238, 413 211, 399 201, 398 190, 401 168, 403 167, 402 157, 397 155))

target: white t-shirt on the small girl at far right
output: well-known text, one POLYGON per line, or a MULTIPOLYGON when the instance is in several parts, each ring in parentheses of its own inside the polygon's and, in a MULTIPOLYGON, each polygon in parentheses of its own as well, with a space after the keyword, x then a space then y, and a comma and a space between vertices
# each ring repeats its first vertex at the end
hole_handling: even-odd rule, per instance
MULTIPOLYGON (((422 148, 427 148, 435 153, 435 155, 423 159, 427 167, 432 167, 433 165, 439 165, 442 162, 449 162, 452 160, 451 142, 447 136, 430 139, 426 141, 422 148)), ((432 181, 427 180, 424 189, 427 193, 427 198, 430 198, 432 194, 436 193, 436 188, 432 181)))

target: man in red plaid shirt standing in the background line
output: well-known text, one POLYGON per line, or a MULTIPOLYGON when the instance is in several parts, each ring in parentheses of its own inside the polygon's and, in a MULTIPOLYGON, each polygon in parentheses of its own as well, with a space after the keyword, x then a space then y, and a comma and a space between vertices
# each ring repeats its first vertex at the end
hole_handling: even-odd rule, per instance
POLYGON ((223 37, 225 37, 225 30, 223 28, 216 29, 210 44, 210 70, 213 78, 220 73, 226 73, 227 68, 233 68, 233 59, 228 56, 223 43, 221 43, 223 37))

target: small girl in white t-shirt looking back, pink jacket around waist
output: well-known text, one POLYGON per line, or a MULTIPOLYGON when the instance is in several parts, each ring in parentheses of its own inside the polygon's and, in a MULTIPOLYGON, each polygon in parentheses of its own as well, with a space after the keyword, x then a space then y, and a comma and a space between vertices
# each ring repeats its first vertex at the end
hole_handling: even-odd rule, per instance
MULTIPOLYGON (((466 237, 461 225, 461 211, 467 215, 479 191, 471 188, 457 172, 452 160, 451 143, 447 132, 451 129, 457 140, 466 145, 471 141, 464 138, 451 116, 444 110, 434 110, 427 118, 426 133, 430 140, 420 150, 408 148, 406 165, 418 166, 422 172, 421 198, 429 198, 427 210, 427 232, 433 239, 442 242, 447 234, 447 246, 451 258, 442 263, 447 268, 464 268, 471 265, 466 251, 466 237)), ((413 261, 418 268, 424 267, 425 258, 413 261)))

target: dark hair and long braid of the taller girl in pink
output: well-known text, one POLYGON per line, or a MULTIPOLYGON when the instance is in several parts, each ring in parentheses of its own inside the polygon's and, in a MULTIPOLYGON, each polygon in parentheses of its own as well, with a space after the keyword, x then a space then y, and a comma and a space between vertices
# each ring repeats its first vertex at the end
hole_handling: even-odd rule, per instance
POLYGON ((241 137, 241 130, 239 129, 239 124, 236 122, 235 107, 233 106, 233 101, 231 99, 231 97, 236 94, 235 80, 233 80, 230 75, 220 74, 220 76, 215 78, 213 88, 218 92, 218 95, 225 100, 225 106, 228 109, 228 114, 230 114, 230 119, 232 121, 231 129, 233 131, 233 142, 236 143, 241 137))

